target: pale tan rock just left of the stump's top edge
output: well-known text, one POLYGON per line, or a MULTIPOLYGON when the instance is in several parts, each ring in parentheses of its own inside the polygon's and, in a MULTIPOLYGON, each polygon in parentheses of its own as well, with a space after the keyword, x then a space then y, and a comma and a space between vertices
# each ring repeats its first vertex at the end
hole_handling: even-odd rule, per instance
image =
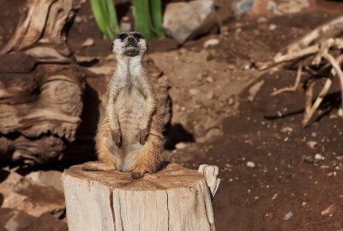
POLYGON ((25 178, 38 185, 51 186, 63 192, 62 173, 60 171, 32 171, 25 178))

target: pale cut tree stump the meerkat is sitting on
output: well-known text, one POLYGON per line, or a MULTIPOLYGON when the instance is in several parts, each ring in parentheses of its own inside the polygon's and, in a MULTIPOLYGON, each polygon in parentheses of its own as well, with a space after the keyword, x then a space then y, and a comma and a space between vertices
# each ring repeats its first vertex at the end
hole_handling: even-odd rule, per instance
POLYGON ((199 171, 169 163, 132 180, 130 172, 82 166, 63 173, 70 231, 215 230, 209 186, 199 171))

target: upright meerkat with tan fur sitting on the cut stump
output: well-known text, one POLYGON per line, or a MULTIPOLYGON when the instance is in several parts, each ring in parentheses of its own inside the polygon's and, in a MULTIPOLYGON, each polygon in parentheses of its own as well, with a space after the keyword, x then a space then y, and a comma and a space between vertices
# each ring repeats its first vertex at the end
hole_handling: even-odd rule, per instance
POLYGON ((164 138, 157 115, 157 97, 143 67, 147 43, 139 32, 121 32, 112 43, 116 54, 114 72, 102 98, 96 134, 101 169, 88 171, 132 171, 133 179, 158 170, 164 138))

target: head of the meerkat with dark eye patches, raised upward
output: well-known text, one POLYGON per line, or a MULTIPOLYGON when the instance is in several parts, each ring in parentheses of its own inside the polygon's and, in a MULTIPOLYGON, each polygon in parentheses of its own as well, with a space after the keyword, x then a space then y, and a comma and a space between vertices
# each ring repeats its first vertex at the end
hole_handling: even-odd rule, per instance
POLYGON ((112 51, 125 56, 142 56, 147 49, 144 36, 139 32, 120 32, 112 42, 112 51))

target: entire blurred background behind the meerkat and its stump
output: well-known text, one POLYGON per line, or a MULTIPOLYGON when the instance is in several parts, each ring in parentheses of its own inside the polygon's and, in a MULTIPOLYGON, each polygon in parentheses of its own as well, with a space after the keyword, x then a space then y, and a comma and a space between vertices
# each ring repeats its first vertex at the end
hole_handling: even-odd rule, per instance
POLYGON ((112 38, 132 30, 149 43, 166 160, 219 167, 217 230, 343 230, 342 1, 0 5, 0 230, 68 230, 61 173, 96 160, 112 38))

